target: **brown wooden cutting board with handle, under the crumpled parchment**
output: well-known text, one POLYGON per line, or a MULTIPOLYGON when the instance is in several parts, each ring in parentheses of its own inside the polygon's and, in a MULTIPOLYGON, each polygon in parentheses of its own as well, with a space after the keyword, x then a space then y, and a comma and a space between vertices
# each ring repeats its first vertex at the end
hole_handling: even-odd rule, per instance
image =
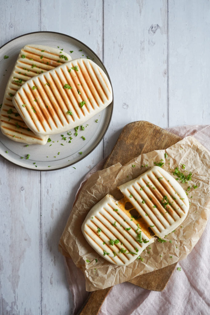
MULTIPOLYGON (((124 165, 142 153, 166 149, 181 139, 179 136, 146 121, 129 123, 122 129, 122 133, 108 157, 104 168, 118 162, 124 165)), ((153 272, 145 273, 131 279, 129 282, 148 290, 162 291, 175 267, 176 263, 153 272)), ((92 292, 79 314, 97 315, 111 288, 92 292)))

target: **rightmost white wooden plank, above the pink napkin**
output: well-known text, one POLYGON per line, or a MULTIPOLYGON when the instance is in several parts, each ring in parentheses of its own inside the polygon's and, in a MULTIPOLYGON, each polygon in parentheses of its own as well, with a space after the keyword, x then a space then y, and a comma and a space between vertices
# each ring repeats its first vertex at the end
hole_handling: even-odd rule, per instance
POLYGON ((168 1, 169 126, 209 124, 209 1, 168 1))

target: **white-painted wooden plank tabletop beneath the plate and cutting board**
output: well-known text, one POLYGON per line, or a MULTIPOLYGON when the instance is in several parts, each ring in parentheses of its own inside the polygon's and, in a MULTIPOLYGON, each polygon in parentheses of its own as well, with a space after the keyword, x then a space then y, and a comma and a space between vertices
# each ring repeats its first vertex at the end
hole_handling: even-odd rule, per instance
POLYGON ((80 181, 124 125, 209 124, 209 16, 206 0, 1 1, 0 46, 33 31, 70 35, 103 60, 114 91, 110 127, 76 169, 32 171, 0 157, 1 315, 72 313, 58 242, 80 181))

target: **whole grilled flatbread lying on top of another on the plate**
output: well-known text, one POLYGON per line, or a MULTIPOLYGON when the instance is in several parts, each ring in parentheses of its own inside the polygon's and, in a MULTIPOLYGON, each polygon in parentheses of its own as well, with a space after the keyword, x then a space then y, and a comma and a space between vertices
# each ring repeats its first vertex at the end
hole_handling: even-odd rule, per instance
POLYGON ((105 72, 83 58, 31 78, 13 98, 27 126, 43 136, 81 125, 111 101, 112 88, 105 72))

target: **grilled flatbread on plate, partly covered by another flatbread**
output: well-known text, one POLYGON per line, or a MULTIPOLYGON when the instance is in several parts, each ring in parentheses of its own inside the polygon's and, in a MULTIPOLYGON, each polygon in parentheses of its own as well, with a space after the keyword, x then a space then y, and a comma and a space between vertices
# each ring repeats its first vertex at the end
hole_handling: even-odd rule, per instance
POLYGON ((45 45, 29 44, 20 50, 5 89, 0 112, 0 128, 4 135, 17 142, 46 144, 48 135, 35 135, 16 110, 12 99, 26 81, 69 60, 71 60, 69 54, 45 45))

